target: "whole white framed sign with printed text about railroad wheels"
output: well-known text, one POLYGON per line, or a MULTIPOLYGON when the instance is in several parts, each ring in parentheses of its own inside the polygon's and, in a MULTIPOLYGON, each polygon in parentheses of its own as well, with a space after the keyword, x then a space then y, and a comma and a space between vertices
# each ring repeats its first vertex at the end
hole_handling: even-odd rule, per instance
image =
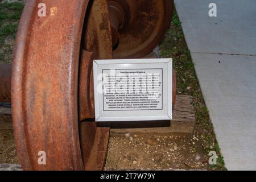
POLYGON ((94 60, 96 121, 172 119, 172 59, 94 60))

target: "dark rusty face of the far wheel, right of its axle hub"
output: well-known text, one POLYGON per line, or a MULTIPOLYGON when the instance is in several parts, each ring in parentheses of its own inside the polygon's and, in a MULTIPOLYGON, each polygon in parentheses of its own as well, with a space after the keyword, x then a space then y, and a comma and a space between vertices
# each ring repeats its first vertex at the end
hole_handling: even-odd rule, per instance
POLYGON ((172 18, 173 0, 109 0, 125 11, 124 26, 114 58, 140 58, 152 51, 164 38, 172 18))

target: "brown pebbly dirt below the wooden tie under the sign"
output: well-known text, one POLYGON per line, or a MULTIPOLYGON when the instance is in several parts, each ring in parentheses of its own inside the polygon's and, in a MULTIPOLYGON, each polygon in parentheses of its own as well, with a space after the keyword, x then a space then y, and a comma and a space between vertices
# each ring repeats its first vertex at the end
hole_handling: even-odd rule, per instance
POLYGON ((112 133, 105 170, 209 169, 208 156, 198 144, 200 136, 193 136, 182 133, 112 133))

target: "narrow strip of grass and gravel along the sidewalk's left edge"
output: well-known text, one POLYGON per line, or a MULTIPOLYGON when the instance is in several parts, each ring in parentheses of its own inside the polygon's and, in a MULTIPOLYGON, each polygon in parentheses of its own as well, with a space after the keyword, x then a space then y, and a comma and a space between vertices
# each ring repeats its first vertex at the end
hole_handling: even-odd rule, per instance
POLYGON ((220 148, 218 147, 208 109, 196 77, 191 52, 185 42, 181 22, 176 10, 174 11, 172 24, 167 31, 166 38, 160 44, 160 53, 162 57, 172 57, 173 59, 177 76, 177 94, 190 95, 193 98, 197 123, 192 135, 200 136, 197 147, 203 148, 206 156, 208 156, 209 151, 214 150, 217 152, 217 164, 213 166, 208 165, 209 169, 225 170, 224 159, 220 155, 220 148))

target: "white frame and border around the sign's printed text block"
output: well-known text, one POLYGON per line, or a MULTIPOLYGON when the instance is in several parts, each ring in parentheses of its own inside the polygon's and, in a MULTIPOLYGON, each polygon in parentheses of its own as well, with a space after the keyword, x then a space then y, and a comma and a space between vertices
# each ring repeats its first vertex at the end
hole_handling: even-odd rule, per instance
MULTIPOLYGON (((172 119, 172 59, 118 59, 93 60, 94 106, 96 122, 121 121, 163 121, 172 119), (104 110, 104 86, 102 79, 105 72, 142 70, 144 72, 162 69, 162 107, 156 109, 115 109, 104 110), (102 74, 103 73, 103 74, 102 74), (102 89, 102 90, 101 90, 102 89)), ((159 86, 160 88, 160 86, 159 86)), ((160 103, 160 98, 159 98, 160 103)), ((106 105, 108 106, 108 105, 106 105)))

